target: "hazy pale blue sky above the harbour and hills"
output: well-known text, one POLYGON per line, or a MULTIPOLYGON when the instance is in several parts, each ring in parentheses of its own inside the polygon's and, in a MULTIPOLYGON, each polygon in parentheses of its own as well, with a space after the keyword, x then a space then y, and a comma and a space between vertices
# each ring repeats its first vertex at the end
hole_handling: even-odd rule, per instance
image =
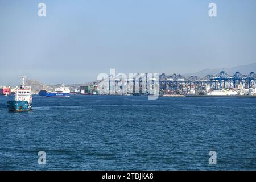
POLYGON ((256 62, 255 0, 0 0, 0 22, 0 85, 22 74, 69 84, 110 68, 191 73, 256 62))

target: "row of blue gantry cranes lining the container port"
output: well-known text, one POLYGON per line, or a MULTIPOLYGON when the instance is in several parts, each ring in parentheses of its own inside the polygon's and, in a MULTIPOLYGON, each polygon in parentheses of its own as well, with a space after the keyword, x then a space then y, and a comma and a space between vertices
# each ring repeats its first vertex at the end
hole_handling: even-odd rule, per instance
MULTIPOLYGON (((185 77, 183 75, 166 75, 162 73, 158 75, 159 79, 155 79, 154 75, 149 73, 139 74, 136 73, 133 78, 124 79, 122 76, 118 78, 114 78, 113 75, 109 76, 109 93, 117 93, 115 90, 110 90, 110 86, 113 89, 122 89, 127 87, 128 84, 131 85, 131 93, 134 94, 143 94, 150 93, 150 89, 154 89, 155 81, 158 80, 159 84, 159 92, 160 93, 183 93, 183 86, 191 87, 200 86, 203 87, 205 85, 209 85, 213 90, 222 90, 222 89, 237 89, 239 84, 243 84, 244 88, 254 88, 255 89, 255 80, 256 75, 254 72, 249 73, 248 75, 243 75, 240 72, 236 72, 233 75, 228 75, 224 71, 218 73, 217 75, 207 75, 202 78, 197 76, 189 76, 185 77), (149 76, 150 75, 150 76, 149 76), (153 76, 153 77, 152 77, 153 76), (130 81, 129 81, 130 80, 130 81), (127 83, 119 83, 119 82, 127 82, 127 83)), ((128 93, 128 92, 127 92, 128 93)))

